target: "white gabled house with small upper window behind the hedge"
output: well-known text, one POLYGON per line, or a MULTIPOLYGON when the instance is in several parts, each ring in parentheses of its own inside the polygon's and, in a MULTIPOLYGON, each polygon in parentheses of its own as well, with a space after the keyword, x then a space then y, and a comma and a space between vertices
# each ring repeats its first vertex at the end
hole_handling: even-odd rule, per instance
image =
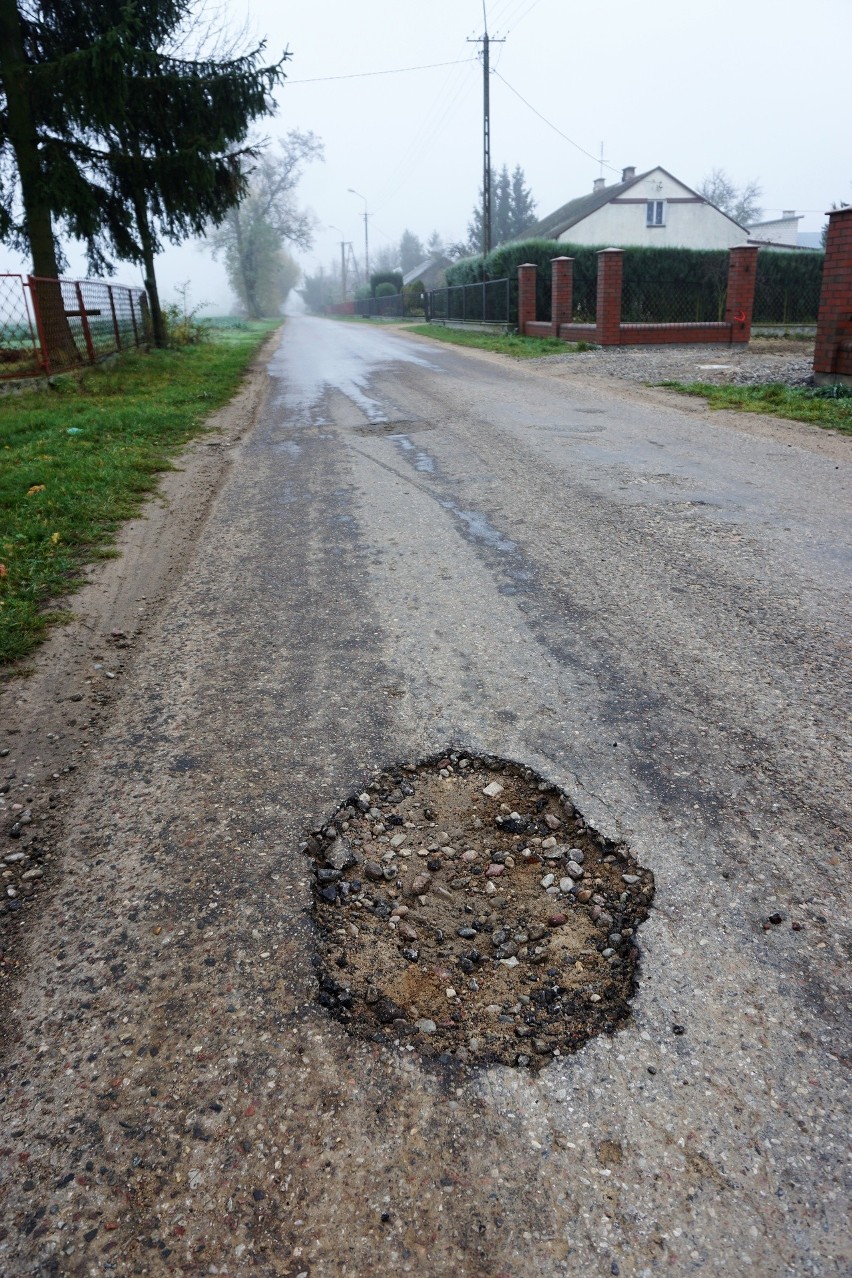
POLYGON ((554 239, 602 248, 733 248, 749 231, 666 169, 636 176, 625 169, 608 187, 597 178, 588 196, 572 199, 529 226, 519 239, 554 239))

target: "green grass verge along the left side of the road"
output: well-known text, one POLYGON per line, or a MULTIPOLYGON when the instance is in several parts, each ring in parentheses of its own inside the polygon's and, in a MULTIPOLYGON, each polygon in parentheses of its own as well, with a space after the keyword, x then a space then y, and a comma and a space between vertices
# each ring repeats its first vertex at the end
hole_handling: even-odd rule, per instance
POLYGON ((217 328, 211 340, 126 354, 0 397, 0 666, 27 656, 51 601, 110 553, 178 450, 236 391, 277 323, 217 328))

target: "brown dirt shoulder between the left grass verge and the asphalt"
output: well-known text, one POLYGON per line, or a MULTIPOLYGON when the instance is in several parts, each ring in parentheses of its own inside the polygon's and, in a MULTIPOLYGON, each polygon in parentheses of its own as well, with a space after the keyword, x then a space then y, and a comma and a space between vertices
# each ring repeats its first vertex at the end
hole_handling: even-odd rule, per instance
POLYGON ((65 809, 148 626, 186 569, 231 450, 263 410, 266 357, 280 339, 276 332, 261 348, 239 394, 208 418, 206 433, 124 525, 115 557, 83 566, 80 590, 54 601, 73 610, 72 624, 0 672, 0 997, 9 997, 19 973, 29 915, 61 873, 65 809))

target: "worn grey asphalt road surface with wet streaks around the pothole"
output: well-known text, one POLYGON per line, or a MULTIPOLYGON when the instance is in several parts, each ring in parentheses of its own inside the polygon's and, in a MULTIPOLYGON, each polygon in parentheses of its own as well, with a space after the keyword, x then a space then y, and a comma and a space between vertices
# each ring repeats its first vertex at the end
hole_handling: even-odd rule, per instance
POLYGON ((849 1272, 848 441, 554 372, 287 321, 24 941, 4 1273, 849 1272), (655 878, 539 1072, 316 1002, 300 842, 453 749, 655 878))

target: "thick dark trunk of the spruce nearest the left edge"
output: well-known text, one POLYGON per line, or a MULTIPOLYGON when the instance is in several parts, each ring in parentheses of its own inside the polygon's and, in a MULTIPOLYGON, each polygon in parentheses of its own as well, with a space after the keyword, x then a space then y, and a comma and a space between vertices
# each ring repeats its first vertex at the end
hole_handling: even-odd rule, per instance
POLYGON ((43 194, 38 133, 29 100, 29 74, 15 0, 0 0, 0 81, 6 95, 6 133, 18 166, 33 275, 51 281, 40 284, 33 298, 33 304, 40 308, 45 357, 49 366, 66 367, 77 363, 79 357, 59 285, 56 240, 50 202, 43 194))

